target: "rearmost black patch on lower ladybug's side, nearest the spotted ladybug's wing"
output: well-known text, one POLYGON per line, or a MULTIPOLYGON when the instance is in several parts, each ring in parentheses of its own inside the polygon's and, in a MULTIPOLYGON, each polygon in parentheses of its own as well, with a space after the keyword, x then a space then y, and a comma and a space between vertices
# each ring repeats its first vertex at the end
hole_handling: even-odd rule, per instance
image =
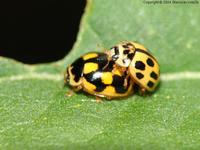
POLYGON ((118 76, 118 75, 113 76, 113 82, 111 85, 115 88, 115 91, 117 93, 126 93, 128 89, 127 87, 129 87, 130 84, 127 87, 124 87, 124 80, 125 80, 124 76, 118 76))

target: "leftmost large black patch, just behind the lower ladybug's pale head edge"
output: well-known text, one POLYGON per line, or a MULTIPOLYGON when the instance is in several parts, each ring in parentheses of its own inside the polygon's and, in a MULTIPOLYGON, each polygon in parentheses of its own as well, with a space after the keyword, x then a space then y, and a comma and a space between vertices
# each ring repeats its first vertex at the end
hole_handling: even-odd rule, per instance
POLYGON ((72 66, 71 72, 74 75, 74 81, 78 82, 82 77, 83 73, 83 66, 84 66, 83 58, 81 57, 77 59, 74 63, 71 64, 71 66, 72 66))

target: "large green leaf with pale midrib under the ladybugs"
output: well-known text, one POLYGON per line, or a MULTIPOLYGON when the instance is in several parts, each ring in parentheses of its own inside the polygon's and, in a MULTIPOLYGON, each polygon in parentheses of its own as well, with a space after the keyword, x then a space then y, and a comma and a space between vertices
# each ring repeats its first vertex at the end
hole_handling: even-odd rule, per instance
POLYGON ((0 149, 199 149, 199 24, 195 4, 88 1, 64 60, 30 66, 0 58, 0 149), (100 104, 82 93, 65 96, 68 64, 123 40, 158 59, 154 94, 100 104))

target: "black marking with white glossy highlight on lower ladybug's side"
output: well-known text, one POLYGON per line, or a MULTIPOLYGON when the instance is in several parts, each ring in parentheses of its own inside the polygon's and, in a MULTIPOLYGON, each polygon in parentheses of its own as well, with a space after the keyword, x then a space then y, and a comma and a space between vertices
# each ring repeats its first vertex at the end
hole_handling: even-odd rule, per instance
POLYGON ((101 76, 97 75, 98 73, 102 73, 101 71, 95 71, 88 74, 84 74, 84 78, 91 84, 96 86, 96 92, 102 92, 106 88, 106 84, 104 84, 101 80, 101 76))

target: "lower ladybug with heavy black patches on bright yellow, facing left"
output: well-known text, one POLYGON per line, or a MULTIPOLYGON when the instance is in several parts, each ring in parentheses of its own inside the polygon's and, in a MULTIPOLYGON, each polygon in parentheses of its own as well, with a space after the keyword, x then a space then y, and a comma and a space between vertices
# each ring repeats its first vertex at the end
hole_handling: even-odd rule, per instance
POLYGON ((127 71, 121 71, 105 53, 90 52, 76 59, 66 69, 65 84, 74 91, 107 99, 133 93, 134 82, 127 71))

